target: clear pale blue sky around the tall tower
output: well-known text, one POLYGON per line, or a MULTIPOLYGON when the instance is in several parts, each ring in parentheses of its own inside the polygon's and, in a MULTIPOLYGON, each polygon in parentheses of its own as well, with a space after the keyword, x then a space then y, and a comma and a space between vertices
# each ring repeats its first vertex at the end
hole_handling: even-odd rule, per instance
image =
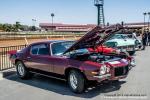
MULTIPOLYGON (((106 22, 142 22, 143 12, 150 12, 150 0, 104 0, 106 22)), ((0 23, 32 25, 39 23, 96 24, 94 0, 0 0, 0 23)))

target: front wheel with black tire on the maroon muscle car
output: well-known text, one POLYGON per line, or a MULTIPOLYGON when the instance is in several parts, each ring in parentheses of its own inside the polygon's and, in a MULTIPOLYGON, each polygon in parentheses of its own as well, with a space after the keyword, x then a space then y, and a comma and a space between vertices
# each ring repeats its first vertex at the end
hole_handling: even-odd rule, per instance
POLYGON ((85 90, 85 78, 79 71, 70 71, 68 76, 68 84, 74 93, 82 93, 85 90))

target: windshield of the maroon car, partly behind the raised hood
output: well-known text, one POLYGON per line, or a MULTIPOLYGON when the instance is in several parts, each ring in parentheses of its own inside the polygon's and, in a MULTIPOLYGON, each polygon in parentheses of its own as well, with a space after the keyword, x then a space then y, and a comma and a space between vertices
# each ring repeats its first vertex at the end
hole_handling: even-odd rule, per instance
POLYGON ((53 43, 52 48, 52 54, 53 55, 62 55, 68 48, 70 48, 75 41, 66 41, 66 42, 58 42, 53 43))

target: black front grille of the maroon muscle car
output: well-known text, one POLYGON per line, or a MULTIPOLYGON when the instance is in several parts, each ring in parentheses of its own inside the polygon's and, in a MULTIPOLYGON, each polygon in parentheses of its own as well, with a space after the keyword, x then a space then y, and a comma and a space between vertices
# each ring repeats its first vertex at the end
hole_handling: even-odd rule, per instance
POLYGON ((116 67, 114 71, 115 71, 115 76, 127 75, 129 71, 129 66, 116 67))

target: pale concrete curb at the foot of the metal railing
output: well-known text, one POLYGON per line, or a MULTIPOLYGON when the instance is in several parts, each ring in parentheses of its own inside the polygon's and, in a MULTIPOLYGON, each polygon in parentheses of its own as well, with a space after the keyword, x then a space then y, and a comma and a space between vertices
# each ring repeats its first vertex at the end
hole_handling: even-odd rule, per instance
POLYGON ((2 80, 5 77, 14 75, 14 74, 16 74, 15 68, 4 70, 4 71, 0 71, 0 80, 2 80))

